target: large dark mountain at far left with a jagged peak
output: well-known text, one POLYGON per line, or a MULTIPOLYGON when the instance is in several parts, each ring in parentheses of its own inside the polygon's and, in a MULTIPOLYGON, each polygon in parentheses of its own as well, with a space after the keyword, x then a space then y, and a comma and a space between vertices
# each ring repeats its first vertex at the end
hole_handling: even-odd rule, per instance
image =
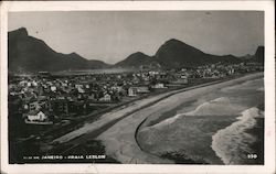
POLYGON ((100 61, 88 61, 76 53, 57 53, 44 41, 30 36, 24 28, 9 32, 8 57, 9 72, 57 72, 109 66, 100 61))

